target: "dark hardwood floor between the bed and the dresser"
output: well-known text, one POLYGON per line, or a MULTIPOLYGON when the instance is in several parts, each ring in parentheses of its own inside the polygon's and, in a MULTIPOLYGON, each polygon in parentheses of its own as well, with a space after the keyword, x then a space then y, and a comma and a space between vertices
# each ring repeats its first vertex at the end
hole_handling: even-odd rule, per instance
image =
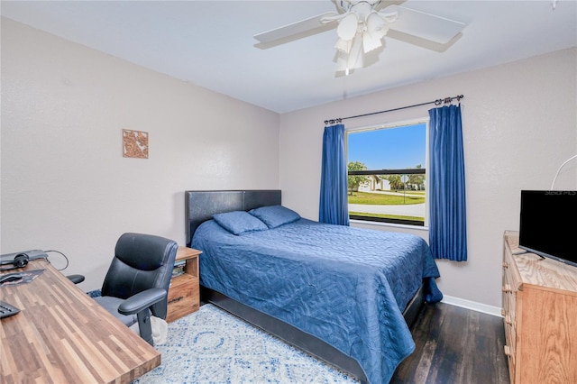
POLYGON ((391 383, 508 383, 503 319, 444 303, 426 305, 411 327, 415 352, 391 383))

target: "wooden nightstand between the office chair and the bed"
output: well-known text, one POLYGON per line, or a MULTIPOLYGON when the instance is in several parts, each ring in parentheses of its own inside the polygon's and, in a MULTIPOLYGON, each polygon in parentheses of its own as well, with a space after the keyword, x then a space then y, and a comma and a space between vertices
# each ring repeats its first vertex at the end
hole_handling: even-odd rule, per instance
POLYGON ((167 322, 191 314, 200 306, 198 288, 198 255, 200 253, 202 251, 188 247, 179 247, 177 251, 175 263, 185 261, 184 273, 170 279, 167 322))

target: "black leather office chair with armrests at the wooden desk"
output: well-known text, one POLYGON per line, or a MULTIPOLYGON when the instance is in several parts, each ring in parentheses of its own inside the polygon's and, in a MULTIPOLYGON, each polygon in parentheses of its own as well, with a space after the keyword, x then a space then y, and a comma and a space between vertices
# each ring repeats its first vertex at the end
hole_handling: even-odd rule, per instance
POLYGON ((167 297, 179 246, 172 240, 124 233, 116 242, 102 296, 95 300, 126 326, 138 322, 142 339, 151 345, 151 315, 166 319, 167 297))

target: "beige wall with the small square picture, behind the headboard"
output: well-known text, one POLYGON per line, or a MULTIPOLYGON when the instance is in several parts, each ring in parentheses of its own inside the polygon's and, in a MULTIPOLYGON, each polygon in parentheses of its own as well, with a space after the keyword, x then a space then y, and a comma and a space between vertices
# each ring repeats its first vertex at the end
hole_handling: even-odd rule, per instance
POLYGON ((279 114, 4 18, 1 140, 0 251, 62 251, 86 290, 124 232, 184 244, 184 190, 279 187, 279 114))

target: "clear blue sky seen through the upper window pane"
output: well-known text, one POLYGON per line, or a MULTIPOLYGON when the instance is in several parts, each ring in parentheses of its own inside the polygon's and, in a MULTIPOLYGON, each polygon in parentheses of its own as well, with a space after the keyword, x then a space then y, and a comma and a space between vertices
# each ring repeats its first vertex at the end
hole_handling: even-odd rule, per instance
POLYGON ((425 168, 426 124, 348 133, 347 164, 361 161, 367 169, 425 168))

